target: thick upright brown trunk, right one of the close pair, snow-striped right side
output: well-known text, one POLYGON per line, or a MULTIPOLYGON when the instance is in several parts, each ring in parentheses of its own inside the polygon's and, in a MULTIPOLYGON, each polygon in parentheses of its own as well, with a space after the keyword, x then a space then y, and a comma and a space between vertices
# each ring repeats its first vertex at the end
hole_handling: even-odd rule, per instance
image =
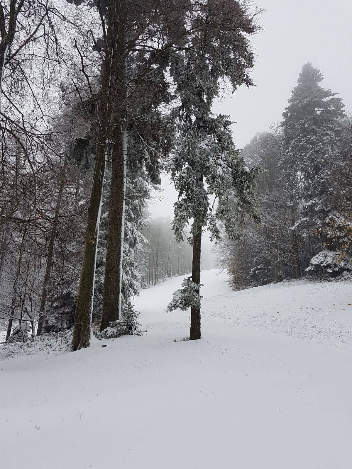
POLYGON ((127 133, 124 125, 115 126, 113 142, 109 226, 100 331, 106 329, 110 322, 117 321, 121 315, 127 164, 127 133))

